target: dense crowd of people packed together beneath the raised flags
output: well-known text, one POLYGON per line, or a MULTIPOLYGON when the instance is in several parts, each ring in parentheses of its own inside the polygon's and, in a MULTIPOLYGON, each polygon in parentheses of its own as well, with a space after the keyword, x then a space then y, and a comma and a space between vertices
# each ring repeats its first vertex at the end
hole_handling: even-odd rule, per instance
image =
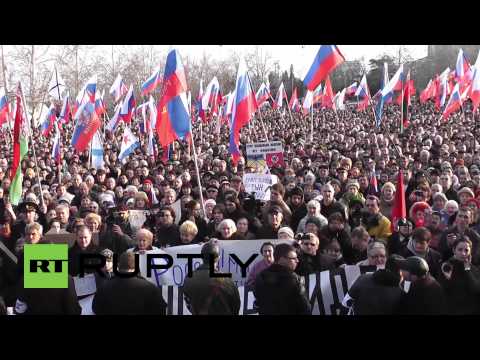
MULTIPOLYGON (((5 307, 17 314, 81 312, 71 286, 48 296, 23 288, 24 244, 41 244, 47 232, 64 231, 76 234, 70 276, 78 274, 82 253, 102 253, 107 260, 122 254, 119 268, 131 271, 131 254, 153 249, 204 243, 205 256, 215 258, 214 239, 293 240, 266 242, 259 249, 263 260, 251 269, 247 284, 260 314, 311 313, 300 277, 345 265, 379 267, 349 291, 345 306, 355 314, 480 313, 480 146, 478 115, 468 103, 444 121, 433 103, 413 101, 403 132, 395 104, 386 105, 380 126, 371 109, 358 112, 354 105, 306 115, 282 114, 268 105, 261 111, 242 129, 244 156, 238 164, 228 151, 227 124, 212 119, 200 129, 194 122, 199 178, 191 143, 175 142, 168 156, 161 147, 147 155, 136 121, 127 126, 142 146, 122 163, 125 124, 115 133, 106 131, 105 164, 99 169, 89 165, 88 152, 78 154, 70 146, 72 122, 62 125, 61 164, 51 155, 53 139, 32 129, 18 206, 8 200, 12 153, 4 130, 0 241, 18 258, 15 264, 0 250, 5 307), (270 200, 261 202, 242 183, 243 175, 254 171, 245 145, 267 140, 283 143, 285 165, 270 169, 279 182, 270 200), (400 171, 407 216, 393 222, 400 171), (181 211, 173 206, 177 201, 181 211), (141 229, 132 228, 129 210, 148 211, 141 229), (402 287, 405 280, 409 289, 402 287)), ((107 261, 106 276, 98 280, 95 313, 165 313, 158 289, 141 277, 128 283, 116 279, 111 267, 107 261)), ((192 313, 238 314, 238 290, 205 270, 185 284, 192 313), (205 295, 208 289, 214 295, 205 295)))

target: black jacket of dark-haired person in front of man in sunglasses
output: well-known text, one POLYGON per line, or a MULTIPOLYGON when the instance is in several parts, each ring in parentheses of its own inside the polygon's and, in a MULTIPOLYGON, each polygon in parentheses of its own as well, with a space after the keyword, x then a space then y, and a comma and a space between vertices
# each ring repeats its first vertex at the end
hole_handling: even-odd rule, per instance
POLYGON ((260 315, 310 315, 311 307, 300 278, 272 264, 257 275, 254 294, 260 315))

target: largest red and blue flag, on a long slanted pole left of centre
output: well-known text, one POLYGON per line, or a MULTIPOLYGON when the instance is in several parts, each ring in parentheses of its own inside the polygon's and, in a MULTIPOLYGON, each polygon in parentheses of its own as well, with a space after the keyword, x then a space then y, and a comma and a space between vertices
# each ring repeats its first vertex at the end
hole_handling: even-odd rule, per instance
POLYGON ((187 101, 187 80, 178 50, 167 56, 163 86, 157 107, 157 134, 162 146, 190 133, 190 113, 187 101))

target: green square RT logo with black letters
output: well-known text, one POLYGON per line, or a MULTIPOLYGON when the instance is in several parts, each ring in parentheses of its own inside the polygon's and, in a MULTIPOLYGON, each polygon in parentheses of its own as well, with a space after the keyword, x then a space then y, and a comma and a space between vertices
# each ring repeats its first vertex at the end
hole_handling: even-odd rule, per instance
POLYGON ((68 288, 67 244, 26 244, 24 255, 26 289, 68 288))

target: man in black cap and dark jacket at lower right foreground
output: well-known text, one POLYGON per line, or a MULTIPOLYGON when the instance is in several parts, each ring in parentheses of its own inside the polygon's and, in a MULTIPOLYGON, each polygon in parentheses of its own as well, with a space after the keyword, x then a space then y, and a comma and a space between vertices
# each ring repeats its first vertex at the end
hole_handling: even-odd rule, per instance
POLYGON ((447 303, 442 286, 429 274, 427 262, 418 256, 398 261, 402 276, 409 284, 405 286, 400 300, 402 315, 444 315, 447 303), (408 288, 407 288, 408 287, 408 288))

